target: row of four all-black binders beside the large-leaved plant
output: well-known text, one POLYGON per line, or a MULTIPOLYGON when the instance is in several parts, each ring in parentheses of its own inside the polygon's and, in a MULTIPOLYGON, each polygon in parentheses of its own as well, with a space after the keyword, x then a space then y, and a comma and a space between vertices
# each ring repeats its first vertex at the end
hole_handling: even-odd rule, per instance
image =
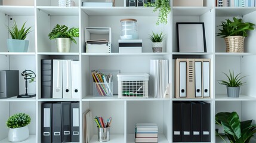
POLYGON ((211 142, 211 104, 203 101, 174 101, 173 142, 211 142))

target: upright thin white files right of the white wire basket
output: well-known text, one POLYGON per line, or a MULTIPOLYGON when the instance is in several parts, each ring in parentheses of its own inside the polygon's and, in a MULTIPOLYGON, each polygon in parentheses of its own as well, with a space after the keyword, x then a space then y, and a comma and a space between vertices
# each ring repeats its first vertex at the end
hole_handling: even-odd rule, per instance
POLYGON ((150 60, 150 89, 155 98, 167 98, 169 83, 169 60, 150 60))

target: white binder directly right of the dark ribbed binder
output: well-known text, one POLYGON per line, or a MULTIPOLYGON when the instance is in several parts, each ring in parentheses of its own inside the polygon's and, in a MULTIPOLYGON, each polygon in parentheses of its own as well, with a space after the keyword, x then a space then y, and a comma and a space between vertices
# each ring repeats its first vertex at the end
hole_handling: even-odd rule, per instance
POLYGON ((53 98, 62 98, 62 60, 53 60, 53 98))

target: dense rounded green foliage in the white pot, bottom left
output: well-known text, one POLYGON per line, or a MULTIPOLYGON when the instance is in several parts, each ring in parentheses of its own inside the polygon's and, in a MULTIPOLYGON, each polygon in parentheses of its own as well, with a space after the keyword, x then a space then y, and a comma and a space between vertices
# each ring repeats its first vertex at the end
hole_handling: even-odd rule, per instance
POLYGON ((21 128, 29 125, 31 118, 28 114, 17 113, 13 114, 6 122, 8 128, 21 128))

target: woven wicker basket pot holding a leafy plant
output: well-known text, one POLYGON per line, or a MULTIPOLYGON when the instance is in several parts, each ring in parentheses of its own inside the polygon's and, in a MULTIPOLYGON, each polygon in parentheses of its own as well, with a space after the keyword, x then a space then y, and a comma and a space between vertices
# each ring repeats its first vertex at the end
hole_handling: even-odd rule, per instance
POLYGON ((243 52, 243 36, 227 36, 225 39, 226 52, 243 52))

